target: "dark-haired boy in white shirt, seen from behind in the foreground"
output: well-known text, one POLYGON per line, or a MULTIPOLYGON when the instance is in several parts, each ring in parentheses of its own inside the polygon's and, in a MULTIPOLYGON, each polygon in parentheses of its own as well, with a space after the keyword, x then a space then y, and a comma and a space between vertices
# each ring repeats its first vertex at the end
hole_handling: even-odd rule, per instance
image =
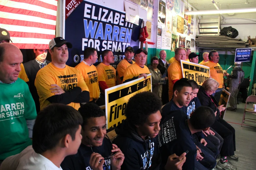
POLYGON ((71 106, 52 104, 38 113, 32 146, 9 156, 0 170, 62 170, 60 163, 77 153, 83 118, 71 106))

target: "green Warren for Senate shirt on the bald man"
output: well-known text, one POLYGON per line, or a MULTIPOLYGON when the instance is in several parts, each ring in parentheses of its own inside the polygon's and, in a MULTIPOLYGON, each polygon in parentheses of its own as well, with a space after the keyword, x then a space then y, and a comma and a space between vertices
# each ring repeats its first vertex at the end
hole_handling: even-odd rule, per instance
POLYGON ((32 145, 26 120, 36 119, 35 102, 25 81, 0 83, 0 161, 32 145))

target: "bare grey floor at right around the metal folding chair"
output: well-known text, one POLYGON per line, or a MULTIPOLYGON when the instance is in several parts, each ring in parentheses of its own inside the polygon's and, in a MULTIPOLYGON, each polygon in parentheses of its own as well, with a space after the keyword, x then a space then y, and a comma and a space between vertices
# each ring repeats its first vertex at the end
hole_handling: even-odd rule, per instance
MULTIPOLYGON (((241 127, 245 104, 239 103, 236 112, 227 110, 224 117, 236 130, 235 154, 239 157, 238 160, 228 157, 228 160, 237 170, 256 170, 256 123, 245 121, 241 127)), ((247 105, 247 108, 252 108, 252 105, 247 105)), ((246 113, 246 118, 256 119, 256 115, 246 113)))

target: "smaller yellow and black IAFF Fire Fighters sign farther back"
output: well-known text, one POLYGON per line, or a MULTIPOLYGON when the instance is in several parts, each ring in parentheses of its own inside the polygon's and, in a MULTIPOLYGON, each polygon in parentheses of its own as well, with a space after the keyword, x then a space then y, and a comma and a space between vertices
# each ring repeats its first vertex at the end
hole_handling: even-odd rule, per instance
POLYGON ((183 78, 195 80, 198 85, 202 85, 204 80, 210 78, 210 67, 180 60, 183 78))

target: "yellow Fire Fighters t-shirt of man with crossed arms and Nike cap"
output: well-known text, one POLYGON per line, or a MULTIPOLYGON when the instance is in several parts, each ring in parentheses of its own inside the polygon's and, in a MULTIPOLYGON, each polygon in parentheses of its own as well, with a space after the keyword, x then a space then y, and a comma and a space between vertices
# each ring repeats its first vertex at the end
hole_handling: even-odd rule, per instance
MULTIPOLYGON (((73 87, 77 86, 80 87, 82 91, 89 91, 82 74, 76 68, 68 65, 66 65, 65 68, 58 68, 52 63, 47 64, 37 72, 35 79, 41 110, 51 104, 47 99, 55 95, 50 90, 50 88, 53 88, 51 84, 57 84, 64 91, 70 91, 73 87)), ((80 104, 71 102, 68 106, 72 106, 78 110, 80 104)))

